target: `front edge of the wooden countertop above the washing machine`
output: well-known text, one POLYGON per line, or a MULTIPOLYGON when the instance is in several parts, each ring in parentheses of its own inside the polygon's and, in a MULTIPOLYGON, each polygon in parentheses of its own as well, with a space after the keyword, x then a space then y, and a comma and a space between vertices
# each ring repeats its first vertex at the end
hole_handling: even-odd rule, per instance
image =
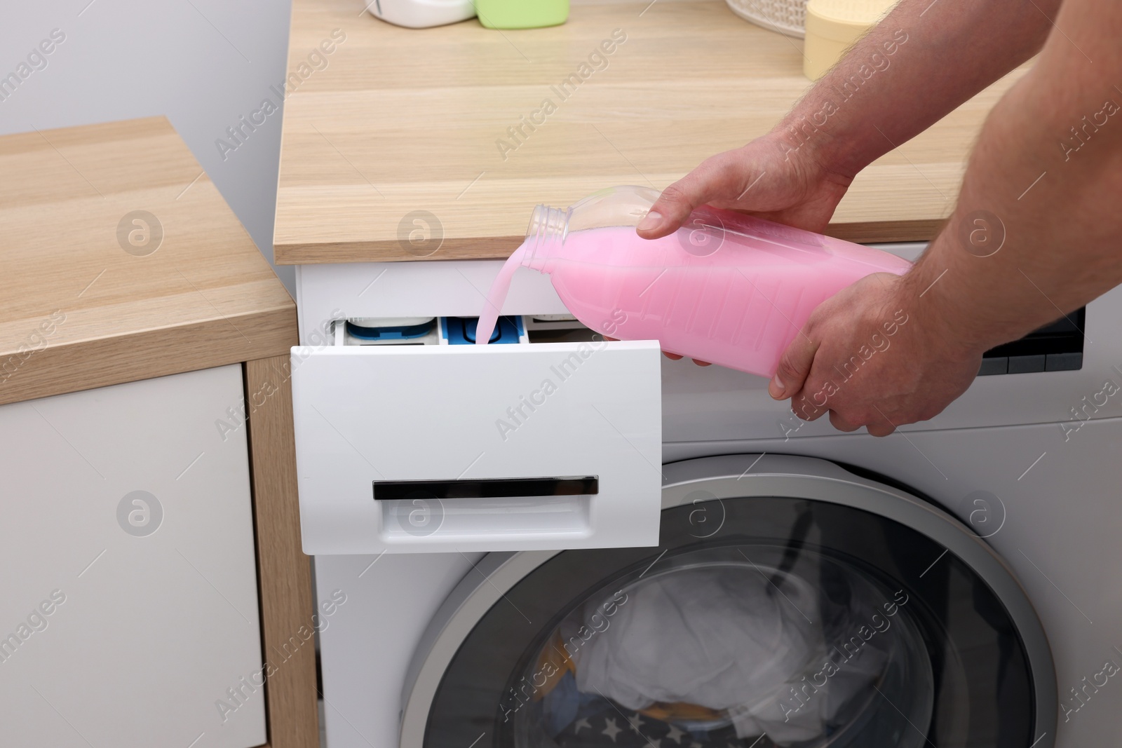
MULTIPOLYGON (((857 243, 930 241, 945 219, 831 223, 826 234, 857 243)), ((448 239, 435 249, 407 251, 397 241, 284 242, 273 246, 277 265, 337 262, 411 262, 440 260, 505 260, 524 237, 448 239)))

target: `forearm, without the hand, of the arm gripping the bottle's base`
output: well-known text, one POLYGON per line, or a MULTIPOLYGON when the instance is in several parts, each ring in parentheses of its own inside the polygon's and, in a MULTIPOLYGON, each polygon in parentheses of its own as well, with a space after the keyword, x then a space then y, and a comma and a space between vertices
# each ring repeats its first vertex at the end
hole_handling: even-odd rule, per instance
POLYGON ((1122 50, 1111 33, 1122 7, 1067 0, 1056 24, 1063 33, 987 119, 956 210, 905 284, 963 355, 1122 283, 1122 50))

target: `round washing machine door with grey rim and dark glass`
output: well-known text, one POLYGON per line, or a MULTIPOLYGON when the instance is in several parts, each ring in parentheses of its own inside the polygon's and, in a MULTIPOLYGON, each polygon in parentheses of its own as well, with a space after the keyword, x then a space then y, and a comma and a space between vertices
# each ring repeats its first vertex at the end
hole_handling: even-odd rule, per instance
POLYGON ((808 458, 664 467, 660 546, 491 554, 433 620, 404 748, 1047 748, 1047 639, 931 504, 808 458))

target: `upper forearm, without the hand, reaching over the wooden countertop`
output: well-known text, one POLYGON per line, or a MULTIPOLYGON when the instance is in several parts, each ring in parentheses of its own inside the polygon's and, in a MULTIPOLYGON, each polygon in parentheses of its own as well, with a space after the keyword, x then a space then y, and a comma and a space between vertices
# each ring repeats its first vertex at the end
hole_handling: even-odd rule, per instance
POLYGON ((902 0, 775 128, 852 178, 1036 54, 1059 0, 902 0))

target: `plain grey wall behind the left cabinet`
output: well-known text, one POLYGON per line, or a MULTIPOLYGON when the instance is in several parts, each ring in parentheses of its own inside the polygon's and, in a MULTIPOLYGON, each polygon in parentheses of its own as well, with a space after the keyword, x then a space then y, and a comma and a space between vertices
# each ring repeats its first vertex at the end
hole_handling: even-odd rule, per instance
MULTIPOLYGON (((224 158, 214 141, 276 101, 289 10, 288 0, 3 0, 0 76, 53 29, 65 40, 0 101, 0 135, 164 114, 272 262, 280 113, 224 158)), ((293 269, 278 275, 291 293, 293 269)))

